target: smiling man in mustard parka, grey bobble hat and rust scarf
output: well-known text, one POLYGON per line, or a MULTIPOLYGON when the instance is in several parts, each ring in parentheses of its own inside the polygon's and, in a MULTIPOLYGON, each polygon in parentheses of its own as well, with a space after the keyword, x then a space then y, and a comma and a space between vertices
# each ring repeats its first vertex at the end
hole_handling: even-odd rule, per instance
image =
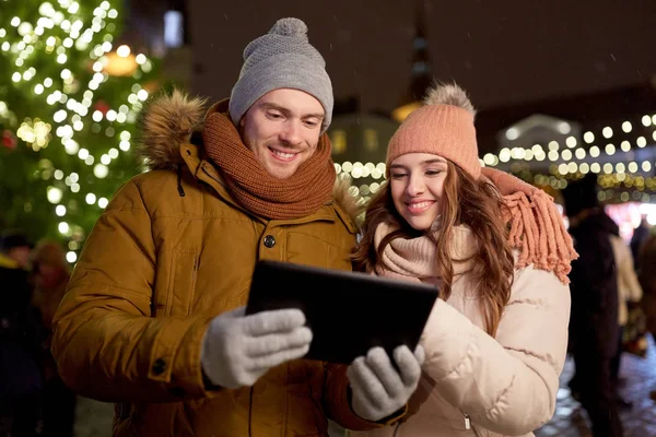
POLYGON ((283 19, 253 40, 204 121, 179 93, 145 115, 154 170, 107 206, 55 318, 62 379, 118 403, 116 436, 325 436, 326 417, 368 429, 417 387, 421 349, 396 351, 400 374, 374 349, 347 378, 298 359, 301 311, 244 315, 257 260, 351 268, 356 227, 333 200, 325 134, 332 88, 306 34, 283 19))

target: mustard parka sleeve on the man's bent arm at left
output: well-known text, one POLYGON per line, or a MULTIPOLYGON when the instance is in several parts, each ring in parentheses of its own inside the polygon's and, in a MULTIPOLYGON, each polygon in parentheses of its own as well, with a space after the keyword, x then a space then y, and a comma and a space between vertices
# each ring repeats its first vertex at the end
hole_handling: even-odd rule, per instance
POLYGON ((167 402, 204 391, 208 316, 151 318, 156 252, 139 187, 127 182, 89 236, 55 316, 63 381, 107 402, 167 402))

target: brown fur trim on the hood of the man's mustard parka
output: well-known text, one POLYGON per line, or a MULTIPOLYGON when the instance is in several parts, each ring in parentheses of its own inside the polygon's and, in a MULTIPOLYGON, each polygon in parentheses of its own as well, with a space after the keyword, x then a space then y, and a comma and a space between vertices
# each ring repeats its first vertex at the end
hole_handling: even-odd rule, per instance
MULTIPOLYGON (((151 170, 176 170, 185 165, 179 151, 180 144, 191 141, 192 133, 202 128, 207 114, 226 102, 222 101, 207 109, 207 99, 190 97, 178 90, 154 97, 144 108, 141 118, 137 149, 140 163, 151 170)), ((332 198, 354 223, 360 224, 364 201, 359 196, 353 197, 350 187, 350 179, 337 177, 332 198)))

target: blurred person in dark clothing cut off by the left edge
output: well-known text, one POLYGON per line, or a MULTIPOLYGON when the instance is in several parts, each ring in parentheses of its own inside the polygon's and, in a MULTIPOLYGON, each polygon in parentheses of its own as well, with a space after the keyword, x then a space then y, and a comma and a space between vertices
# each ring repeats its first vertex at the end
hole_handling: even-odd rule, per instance
POLYGON ((40 347, 25 270, 31 248, 19 231, 0 236, 0 435, 33 436, 38 420, 40 347))

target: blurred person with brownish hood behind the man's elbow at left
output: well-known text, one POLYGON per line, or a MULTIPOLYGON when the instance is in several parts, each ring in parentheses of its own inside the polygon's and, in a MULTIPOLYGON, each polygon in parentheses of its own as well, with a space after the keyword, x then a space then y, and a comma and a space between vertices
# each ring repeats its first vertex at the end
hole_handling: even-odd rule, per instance
POLYGON ((75 413, 75 394, 61 380, 57 364, 50 353, 52 317, 63 298, 70 277, 66 253, 57 241, 43 240, 32 255, 32 305, 40 324, 40 345, 44 354, 44 399, 42 417, 45 436, 72 436, 75 413))

